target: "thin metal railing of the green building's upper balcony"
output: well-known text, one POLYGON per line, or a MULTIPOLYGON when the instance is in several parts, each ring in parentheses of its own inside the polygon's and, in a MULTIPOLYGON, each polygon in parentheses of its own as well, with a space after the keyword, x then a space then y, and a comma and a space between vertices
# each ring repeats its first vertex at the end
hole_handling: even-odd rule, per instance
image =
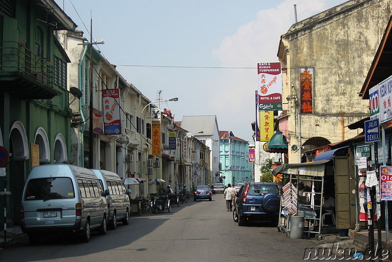
POLYGON ((41 83, 53 84, 53 65, 16 41, 0 41, 0 72, 21 72, 41 83))

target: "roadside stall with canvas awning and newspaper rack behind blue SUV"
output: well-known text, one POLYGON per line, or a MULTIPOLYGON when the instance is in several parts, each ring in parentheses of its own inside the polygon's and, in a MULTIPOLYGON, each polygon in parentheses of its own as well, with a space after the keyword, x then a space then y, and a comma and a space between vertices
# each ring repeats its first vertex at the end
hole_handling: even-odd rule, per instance
POLYGON ((291 228, 295 227, 295 234, 316 234, 318 240, 321 235, 321 210, 324 187, 325 163, 329 160, 319 160, 308 163, 285 164, 272 170, 274 176, 281 174, 282 197, 280 205, 280 219, 278 231, 293 237, 291 228), (293 218, 295 217, 295 220, 293 218), (298 222, 297 218, 303 218, 298 222), (291 225, 295 223, 294 225, 291 225), (302 225, 303 229, 298 232, 302 225), (303 230, 303 231, 302 231, 303 230))

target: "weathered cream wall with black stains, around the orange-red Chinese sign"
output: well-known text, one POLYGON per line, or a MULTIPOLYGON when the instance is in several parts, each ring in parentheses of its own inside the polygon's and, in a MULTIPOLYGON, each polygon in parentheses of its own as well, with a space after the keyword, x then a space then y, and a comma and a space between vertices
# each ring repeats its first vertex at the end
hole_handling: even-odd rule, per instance
POLYGON ((392 0, 356 0, 343 3, 294 24, 282 36, 279 59, 284 62, 283 97, 291 97, 289 162, 299 152, 290 145, 312 137, 331 143, 357 135, 345 126, 368 116, 368 102, 358 92, 364 83, 392 14, 392 0), (314 68, 313 114, 301 114, 298 128, 300 68, 314 68))

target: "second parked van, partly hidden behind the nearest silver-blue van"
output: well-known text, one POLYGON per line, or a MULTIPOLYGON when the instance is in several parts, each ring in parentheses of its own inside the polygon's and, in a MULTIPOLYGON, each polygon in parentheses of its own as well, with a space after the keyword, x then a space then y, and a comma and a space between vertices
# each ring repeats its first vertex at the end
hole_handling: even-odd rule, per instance
POLYGON ((116 229, 117 221, 119 220, 123 222, 123 225, 128 225, 131 207, 128 191, 125 189, 124 183, 119 175, 106 170, 91 170, 102 182, 103 189, 105 189, 106 192, 106 199, 109 204, 108 226, 111 229, 116 229), (109 194, 107 194, 107 192, 109 192, 109 194))

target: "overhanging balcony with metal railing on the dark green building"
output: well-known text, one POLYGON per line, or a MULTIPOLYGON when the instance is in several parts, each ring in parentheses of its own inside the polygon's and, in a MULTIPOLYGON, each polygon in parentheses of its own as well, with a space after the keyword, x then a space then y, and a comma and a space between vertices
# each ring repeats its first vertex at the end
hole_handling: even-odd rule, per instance
POLYGON ((0 89, 22 99, 52 99, 53 66, 24 45, 0 41, 0 89))

